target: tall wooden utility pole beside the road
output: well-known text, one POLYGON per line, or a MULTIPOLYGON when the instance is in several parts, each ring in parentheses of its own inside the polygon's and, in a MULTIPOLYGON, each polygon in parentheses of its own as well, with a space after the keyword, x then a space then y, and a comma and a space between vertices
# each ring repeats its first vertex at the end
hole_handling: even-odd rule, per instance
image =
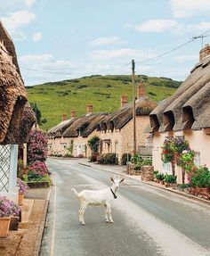
POLYGON ((135 123, 135 62, 132 60, 132 84, 133 84, 133 155, 136 154, 136 123, 135 123))

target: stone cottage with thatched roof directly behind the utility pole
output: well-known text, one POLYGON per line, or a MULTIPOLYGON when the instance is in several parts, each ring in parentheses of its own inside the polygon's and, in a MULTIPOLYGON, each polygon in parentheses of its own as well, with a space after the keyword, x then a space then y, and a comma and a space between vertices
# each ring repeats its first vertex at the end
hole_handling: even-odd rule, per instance
MULTIPOLYGON (((146 96, 145 86, 140 83, 136 100, 136 144, 139 152, 145 148, 148 134, 149 113, 157 103, 146 96)), ((118 161, 124 153, 133 154, 133 103, 127 103, 127 96, 121 96, 121 108, 102 120, 96 133, 101 138, 101 153, 116 153, 118 161)))

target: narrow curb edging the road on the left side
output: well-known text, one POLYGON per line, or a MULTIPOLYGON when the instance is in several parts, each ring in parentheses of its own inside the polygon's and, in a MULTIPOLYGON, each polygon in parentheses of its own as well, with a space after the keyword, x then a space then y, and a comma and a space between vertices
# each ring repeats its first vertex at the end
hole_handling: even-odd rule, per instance
POLYGON ((49 209, 51 194, 52 194, 52 186, 50 187, 50 190, 49 190, 48 195, 47 195, 47 199, 44 202, 43 215, 42 215, 41 224, 40 224, 40 227, 39 227, 39 231, 38 231, 38 234, 37 234, 37 237, 36 237, 36 243, 35 243, 35 247, 34 247, 34 254, 33 254, 34 256, 38 256, 39 252, 40 252, 42 239, 43 239, 43 235, 44 235, 44 226, 45 226, 45 222, 46 222, 47 212, 48 212, 48 209, 49 209))

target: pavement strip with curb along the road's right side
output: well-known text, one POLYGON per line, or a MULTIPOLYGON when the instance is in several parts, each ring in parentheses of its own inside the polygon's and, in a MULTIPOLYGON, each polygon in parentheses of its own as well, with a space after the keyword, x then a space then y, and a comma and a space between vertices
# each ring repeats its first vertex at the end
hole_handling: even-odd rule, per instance
POLYGON ((94 168, 94 169, 101 169, 103 171, 107 171, 107 172, 110 172, 112 174, 120 175, 120 176, 123 176, 125 178, 132 178, 133 180, 136 180, 136 181, 141 182, 143 184, 147 184, 149 186, 155 186, 155 187, 158 187, 160 189, 166 190, 170 193, 179 194, 179 195, 182 195, 184 197, 190 198, 190 199, 198 201, 198 202, 205 202, 207 204, 210 204, 209 200, 200 198, 200 197, 192 195, 192 194, 188 194, 187 192, 181 191, 177 188, 166 187, 166 186, 160 185, 159 183, 154 182, 154 181, 142 181, 140 175, 128 175, 126 173, 126 166, 122 166, 122 165, 102 165, 102 164, 98 164, 98 163, 95 163, 95 162, 90 162, 85 158, 80 159, 79 164, 84 165, 86 167, 94 168))

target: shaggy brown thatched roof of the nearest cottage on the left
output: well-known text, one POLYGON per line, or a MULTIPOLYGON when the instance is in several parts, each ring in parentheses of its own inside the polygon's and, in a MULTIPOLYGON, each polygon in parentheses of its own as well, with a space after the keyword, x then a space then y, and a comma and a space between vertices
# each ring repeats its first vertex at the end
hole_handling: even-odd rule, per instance
POLYGON ((12 39, 1 22, 0 90, 0 144, 27 142, 28 133, 36 118, 27 104, 27 94, 12 39))

